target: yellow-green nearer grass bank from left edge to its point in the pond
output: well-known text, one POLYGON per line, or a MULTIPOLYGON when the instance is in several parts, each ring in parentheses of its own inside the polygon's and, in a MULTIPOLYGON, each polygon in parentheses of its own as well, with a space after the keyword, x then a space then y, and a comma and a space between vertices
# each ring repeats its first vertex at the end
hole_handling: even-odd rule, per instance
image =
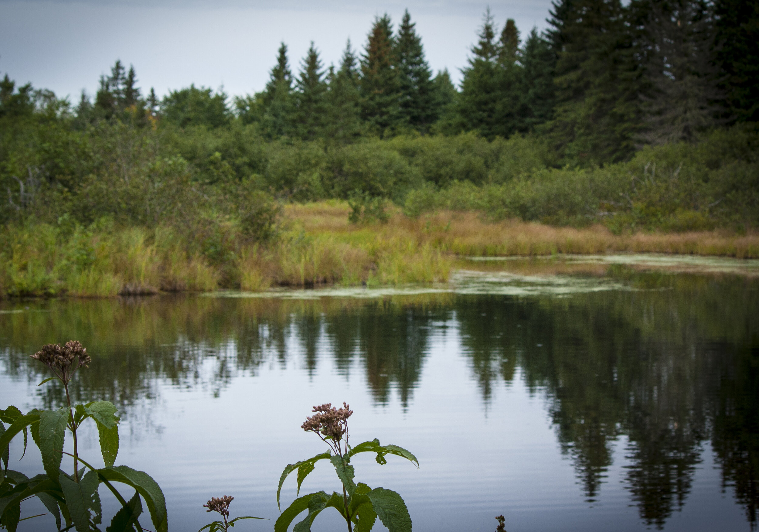
POLYGON ((194 238, 165 226, 6 226, 0 252, 4 296, 110 297, 159 291, 262 290, 271 286, 446 281, 452 259, 408 236, 345 241, 283 231, 268 244, 226 233, 194 238))

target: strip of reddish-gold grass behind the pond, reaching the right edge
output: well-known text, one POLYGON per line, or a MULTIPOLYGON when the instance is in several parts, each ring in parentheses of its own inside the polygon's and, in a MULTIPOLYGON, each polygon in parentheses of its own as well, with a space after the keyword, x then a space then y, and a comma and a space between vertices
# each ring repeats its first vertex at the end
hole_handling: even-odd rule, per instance
POLYGON ((348 224, 348 206, 338 202, 291 205, 285 216, 310 235, 339 235, 349 242, 392 235, 430 244, 442 253, 478 257, 612 252, 759 257, 756 231, 746 235, 727 231, 614 235, 602 225, 576 229, 518 220, 487 223, 477 212, 435 212, 418 219, 395 212, 385 225, 361 226, 348 224))

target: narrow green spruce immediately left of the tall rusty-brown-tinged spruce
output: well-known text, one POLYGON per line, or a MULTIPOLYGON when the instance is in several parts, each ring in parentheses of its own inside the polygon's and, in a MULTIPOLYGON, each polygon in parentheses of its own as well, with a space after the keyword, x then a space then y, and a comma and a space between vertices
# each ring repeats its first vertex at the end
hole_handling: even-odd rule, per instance
POLYGON ((359 91, 359 65, 351 48, 351 39, 345 45, 340 68, 329 68, 326 93, 326 139, 339 143, 349 142, 361 135, 361 93, 359 91))

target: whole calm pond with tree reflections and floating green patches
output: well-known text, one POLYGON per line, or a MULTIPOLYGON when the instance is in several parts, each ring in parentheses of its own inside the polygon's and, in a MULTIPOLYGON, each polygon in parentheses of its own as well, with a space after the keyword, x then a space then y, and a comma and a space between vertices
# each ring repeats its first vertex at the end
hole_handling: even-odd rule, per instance
MULTIPOLYGON (((753 529, 759 261, 458 267, 446 285, 3 301, 0 406, 61 405, 28 355, 80 340, 93 362, 75 399, 118 405, 116 463, 162 486, 169 530, 198 530, 222 495, 233 516, 272 519, 235 530, 271 530, 282 468, 326 450, 301 423, 342 401, 351 442, 419 458, 354 459, 357 480, 401 493, 414 530, 494 530, 499 514, 509 532, 753 529)), ((102 464, 96 430, 82 441, 102 464)), ((35 451, 11 468, 41 472, 35 451)), ((301 493, 322 489, 338 489, 326 462, 301 493)), ((291 478, 282 500, 294 497, 291 478)), ((343 527, 328 511, 313 530, 343 527)))

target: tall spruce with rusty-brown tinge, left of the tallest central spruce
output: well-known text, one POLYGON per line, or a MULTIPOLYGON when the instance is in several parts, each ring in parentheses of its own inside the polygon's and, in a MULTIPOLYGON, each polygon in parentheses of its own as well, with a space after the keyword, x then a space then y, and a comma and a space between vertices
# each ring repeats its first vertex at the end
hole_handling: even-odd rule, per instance
POLYGON ((376 134, 402 124, 401 87, 390 17, 374 20, 361 58, 361 118, 376 134))

